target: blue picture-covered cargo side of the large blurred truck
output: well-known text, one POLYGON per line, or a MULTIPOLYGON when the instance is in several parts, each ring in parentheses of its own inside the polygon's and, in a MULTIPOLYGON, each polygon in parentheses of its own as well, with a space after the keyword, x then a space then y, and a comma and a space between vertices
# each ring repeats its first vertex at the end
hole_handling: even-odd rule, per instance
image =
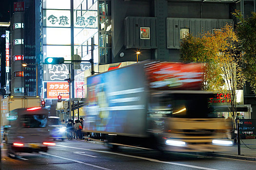
POLYGON ((87 77, 87 132, 145 136, 147 86, 144 65, 87 77))

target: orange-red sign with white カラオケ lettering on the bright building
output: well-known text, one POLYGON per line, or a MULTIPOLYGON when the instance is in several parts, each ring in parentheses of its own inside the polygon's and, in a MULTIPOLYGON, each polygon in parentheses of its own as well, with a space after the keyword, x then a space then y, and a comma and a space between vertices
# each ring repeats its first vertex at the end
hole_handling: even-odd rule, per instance
POLYGON ((47 82, 47 98, 58 99, 61 95, 62 99, 69 99, 69 85, 67 82, 47 82))

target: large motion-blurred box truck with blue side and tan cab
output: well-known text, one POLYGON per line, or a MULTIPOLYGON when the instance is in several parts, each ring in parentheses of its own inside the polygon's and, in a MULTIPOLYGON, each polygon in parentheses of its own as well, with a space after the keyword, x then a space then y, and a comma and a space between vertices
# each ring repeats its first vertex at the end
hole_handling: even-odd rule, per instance
POLYGON ((211 110, 203 64, 147 61, 87 77, 83 131, 108 146, 212 152, 232 145, 232 124, 211 110))

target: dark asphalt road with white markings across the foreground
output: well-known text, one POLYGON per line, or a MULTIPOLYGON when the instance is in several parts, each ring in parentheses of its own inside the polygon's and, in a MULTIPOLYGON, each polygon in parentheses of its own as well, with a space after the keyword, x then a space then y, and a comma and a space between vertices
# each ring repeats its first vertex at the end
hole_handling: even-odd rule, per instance
MULTIPOLYGON (((2 151, 4 153, 5 150, 2 151)), ((256 162, 160 153, 127 147, 116 152, 84 140, 57 142, 47 153, 21 153, 2 157, 1 170, 255 170, 256 162)))

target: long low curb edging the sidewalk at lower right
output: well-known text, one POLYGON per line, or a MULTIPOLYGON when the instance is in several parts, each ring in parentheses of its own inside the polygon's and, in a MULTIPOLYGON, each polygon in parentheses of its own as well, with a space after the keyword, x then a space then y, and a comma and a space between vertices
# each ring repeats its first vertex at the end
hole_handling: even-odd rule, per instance
POLYGON ((248 161, 256 161, 256 157, 243 156, 243 155, 229 155, 229 154, 221 154, 221 153, 191 153, 191 154, 202 155, 202 156, 225 157, 225 158, 241 159, 241 160, 248 160, 248 161))

